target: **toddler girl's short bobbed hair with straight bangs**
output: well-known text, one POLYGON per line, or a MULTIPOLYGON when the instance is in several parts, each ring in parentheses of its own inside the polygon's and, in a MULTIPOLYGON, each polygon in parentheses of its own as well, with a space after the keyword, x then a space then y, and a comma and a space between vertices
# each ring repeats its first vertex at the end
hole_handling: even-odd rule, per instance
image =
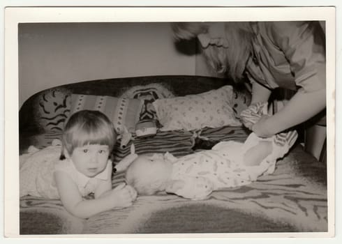
POLYGON ((107 145, 112 151, 116 139, 114 125, 105 114, 95 110, 81 110, 68 119, 62 145, 69 155, 73 154, 75 148, 87 144, 107 145))

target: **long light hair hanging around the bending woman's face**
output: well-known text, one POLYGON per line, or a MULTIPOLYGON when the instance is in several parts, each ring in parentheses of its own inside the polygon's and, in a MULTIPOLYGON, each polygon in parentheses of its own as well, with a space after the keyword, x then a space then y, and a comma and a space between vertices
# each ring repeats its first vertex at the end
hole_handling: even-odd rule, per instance
MULTIPOLYGON (((177 40, 195 38, 200 33, 207 33, 208 28, 206 22, 172 23, 177 40)), ((215 72, 226 73, 238 82, 243 77, 246 62, 253 52, 253 35, 250 22, 225 22, 228 48, 209 45, 202 48, 202 53, 215 72)))

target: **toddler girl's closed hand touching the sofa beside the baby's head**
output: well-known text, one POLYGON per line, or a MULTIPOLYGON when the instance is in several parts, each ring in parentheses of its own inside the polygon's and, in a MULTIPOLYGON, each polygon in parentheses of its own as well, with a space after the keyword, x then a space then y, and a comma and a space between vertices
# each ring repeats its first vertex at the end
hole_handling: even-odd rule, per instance
POLYGON ((112 199, 115 207, 128 207, 136 199, 137 192, 131 187, 122 183, 112 190, 110 198, 112 199))

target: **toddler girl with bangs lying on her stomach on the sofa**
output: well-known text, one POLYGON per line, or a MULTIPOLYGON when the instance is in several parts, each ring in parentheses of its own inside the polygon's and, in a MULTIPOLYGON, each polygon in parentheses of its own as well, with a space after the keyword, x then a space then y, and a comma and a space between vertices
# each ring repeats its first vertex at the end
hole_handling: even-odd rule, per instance
POLYGON ((70 116, 62 146, 54 144, 31 154, 20 169, 20 197, 60 198, 78 218, 131 206, 137 193, 129 185, 112 189, 110 153, 116 134, 110 120, 98 111, 70 116), (59 160, 59 156, 64 160, 59 160), (84 199, 94 193, 94 199, 84 199))

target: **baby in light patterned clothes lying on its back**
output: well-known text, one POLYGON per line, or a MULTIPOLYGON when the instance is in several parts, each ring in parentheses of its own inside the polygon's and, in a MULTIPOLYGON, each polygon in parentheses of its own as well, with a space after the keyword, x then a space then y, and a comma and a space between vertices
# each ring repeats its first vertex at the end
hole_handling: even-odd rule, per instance
POLYGON ((181 158, 170 153, 142 155, 128 167, 126 182, 139 195, 165 190, 188 199, 206 199, 214 190, 246 185, 258 176, 272 174, 276 160, 296 139, 295 131, 267 139, 251 133, 244 144, 220 142, 211 150, 181 158))

